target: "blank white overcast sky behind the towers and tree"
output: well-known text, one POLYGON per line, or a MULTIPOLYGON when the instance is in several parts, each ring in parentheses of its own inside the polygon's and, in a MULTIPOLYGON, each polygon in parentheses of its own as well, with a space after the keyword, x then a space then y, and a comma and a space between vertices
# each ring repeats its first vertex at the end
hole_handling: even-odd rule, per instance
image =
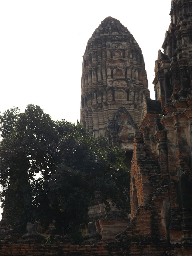
POLYGON ((37 104, 54 120, 79 120, 82 56, 107 16, 140 45, 154 99, 170 6, 171 0, 0 0, 0 111, 37 104))

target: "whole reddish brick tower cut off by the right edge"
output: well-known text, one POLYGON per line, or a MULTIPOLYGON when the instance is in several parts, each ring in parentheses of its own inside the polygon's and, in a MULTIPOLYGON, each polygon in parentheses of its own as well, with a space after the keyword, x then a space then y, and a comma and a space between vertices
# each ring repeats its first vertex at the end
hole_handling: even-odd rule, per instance
POLYGON ((192 255, 192 0, 172 0, 170 15, 134 138, 129 255, 192 255))

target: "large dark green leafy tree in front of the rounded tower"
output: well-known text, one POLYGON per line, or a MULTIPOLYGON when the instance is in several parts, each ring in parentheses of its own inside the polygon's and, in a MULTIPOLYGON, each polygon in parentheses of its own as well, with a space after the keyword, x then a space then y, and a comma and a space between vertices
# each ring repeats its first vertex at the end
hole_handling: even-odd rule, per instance
POLYGON ((39 106, 0 116, 1 200, 7 222, 25 229, 40 220, 45 228, 75 234, 96 201, 129 212, 130 175, 124 153, 104 138, 65 120, 54 122, 39 106))

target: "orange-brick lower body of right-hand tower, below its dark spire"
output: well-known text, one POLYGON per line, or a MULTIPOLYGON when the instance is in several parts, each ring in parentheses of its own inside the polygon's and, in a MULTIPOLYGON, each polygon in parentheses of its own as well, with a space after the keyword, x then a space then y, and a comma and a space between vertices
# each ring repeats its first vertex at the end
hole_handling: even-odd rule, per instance
POLYGON ((177 102, 171 116, 146 114, 134 139, 131 169, 132 232, 144 235, 146 230, 147 236, 151 228, 151 235, 154 230, 172 244, 192 241, 192 109, 180 108, 177 102), (142 207, 147 216, 141 214, 142 207))

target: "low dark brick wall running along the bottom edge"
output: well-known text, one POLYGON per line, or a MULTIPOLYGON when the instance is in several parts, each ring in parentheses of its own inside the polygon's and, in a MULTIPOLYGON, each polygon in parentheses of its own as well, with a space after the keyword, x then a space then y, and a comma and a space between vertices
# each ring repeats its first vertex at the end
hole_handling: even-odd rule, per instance
POLYGON ((191 256, 192 247, 162 244, 148 237, 120 242, 99 242, 90 245, 39 244, 34 242, 11 243, 0 241, 0 256, 191 256))

